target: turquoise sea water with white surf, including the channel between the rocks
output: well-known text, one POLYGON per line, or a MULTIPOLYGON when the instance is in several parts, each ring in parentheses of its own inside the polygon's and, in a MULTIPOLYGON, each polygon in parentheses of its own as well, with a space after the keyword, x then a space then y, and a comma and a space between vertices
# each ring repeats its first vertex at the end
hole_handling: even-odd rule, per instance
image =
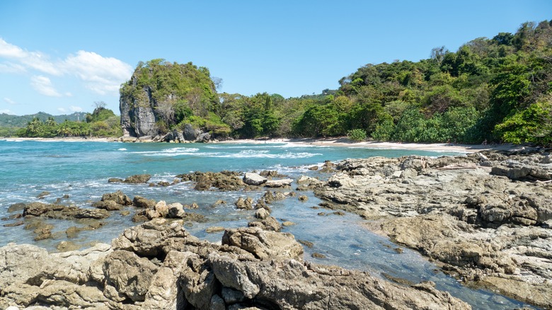
MULTIPOLYGON (((178 183, 166 188, 148 185, 125 185, 108 183, 108 178, 126 178, 133 174, 149 173, 150 182, 168 181, 180 173, 192 171, 263 171, 277 170, 297 179, 301 175, 327 178, 309 166, 321 165, 323 161, 339 161, 347 158, 369 156, 442 156, 452 153, 430 151, 381 150, 357 147, 319 147, 311 144, 132 144, 117 142, 35 142, 0 140, 0 218, 10 215, 7 209, 16 202, 55 202, 57 198, 65 205, 91 207, 91 202, 100 200, 104 193, 122 190, 131 198, 141 195, 168 203, 180 202, 190 205, 196 202, 200 208, 194 212, 207 217, 205 223, 190 223, 186 229, 195 236, 209 241, 220 241, 222 233, 207 234, 209 226, 234 228, 246 226, 253 219, 253 211, 238 210, 234 202, 238 197, 258 198, 258 192, 220 192, 193 190, 192 183, 178 183), (43 191, 50 195, 39 200, 43 191), (212 207, 219 199, 227 205, 212 207)), ((288 198, 272 205, 272 215, 280 220, 296 223, 285 227, 296 239, 311 241, 312 248, 305 247, 305 259, 317 263, 341 265, 345 268, 366 270, 374 275, 386 273, 411 282, 432 280, 437 288, 446 289, 455 297, 469 302, 474 309, 514 309, 523 304, 514 302, 492 292, 468 289, 452 277, 438 271, 418 253, 403 248, 397 253, 396 245, 376 236, 360 226, 360 218, 347 214, 344 217, 320 216, 323 209, 312 209, 320 202, 312 193, 308 202, 288 198), (312 253, 322 253, 326 258, 311 258, 312 253)), ((113 212, 105 219, 105 225, 94 231, 82 231, 75 243, 87 246, 100 241, 109 243, 123 229, 134 226, 130 216, 113 212)), ((15 222, 8 219, 0 222, 0 246, 10 242, 33 243, 54 251, 55 246, 66 240, 64 231, 69 226, 82 226, 79 222, 49 220, 54 225, 54 238, 33 241, 32 231, 23 226, 5 227, 15 222)))

